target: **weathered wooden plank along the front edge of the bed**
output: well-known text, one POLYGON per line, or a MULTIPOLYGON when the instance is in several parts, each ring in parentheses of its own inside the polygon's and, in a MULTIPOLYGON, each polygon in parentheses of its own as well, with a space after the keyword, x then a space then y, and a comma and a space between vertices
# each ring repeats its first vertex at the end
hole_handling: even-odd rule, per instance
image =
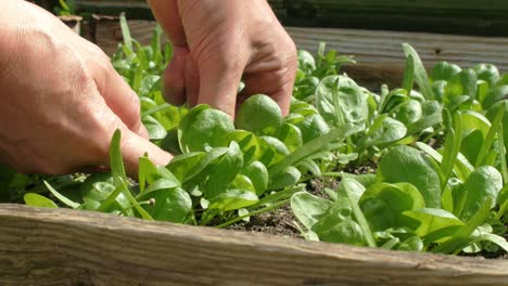
POLYGON ((508 285, 508 261, 0 205, 1 285, 508 285))

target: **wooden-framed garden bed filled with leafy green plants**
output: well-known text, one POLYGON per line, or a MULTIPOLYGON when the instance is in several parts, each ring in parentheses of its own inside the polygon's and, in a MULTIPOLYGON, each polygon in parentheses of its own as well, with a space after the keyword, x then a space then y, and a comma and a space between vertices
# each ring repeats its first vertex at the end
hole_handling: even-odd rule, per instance
POLYGON ((507 261, 480 252, 506 258, 508 249, 508 105, 497 103, 508 76, 499 75, 503 51, 492 49, 504 39, 288 28, 301 48, 319 47, 316 57, 299 53, 291 115, 257 95, 232 122, 206 106, 181 112, 164 103, 160 74, 170 48, 160 51, 160 29, 147 37, 153 22, 128 31, 125 18, 94 20, 92 40, 117 51, 113 65, 140 95, 151 139, 179 155, 166 168, 140 158, 136 184, 125 176, 117 131, 111 174, 36 178, 16 194, 28 205, 117 216, 1 205, 0 284, 508 285, 507 261), (359 64, 345 65, 348 56, 325 53, 317 40, 359 64), (499 70, 441 63, 429 77, 410 46, 399 51, 403 41, 418 47, 428 69, 442 60, 463 67, 492 60, 499 70), (254 112, 263 114, 256 125, 254 112))

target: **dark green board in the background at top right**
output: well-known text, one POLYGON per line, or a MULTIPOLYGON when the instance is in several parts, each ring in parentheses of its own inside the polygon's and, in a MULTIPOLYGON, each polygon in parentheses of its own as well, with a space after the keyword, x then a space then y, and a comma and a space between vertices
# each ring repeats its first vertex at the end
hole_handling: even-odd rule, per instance
POLYGON ((285 1, 284 25, 508 36, 506 0, 285 1))

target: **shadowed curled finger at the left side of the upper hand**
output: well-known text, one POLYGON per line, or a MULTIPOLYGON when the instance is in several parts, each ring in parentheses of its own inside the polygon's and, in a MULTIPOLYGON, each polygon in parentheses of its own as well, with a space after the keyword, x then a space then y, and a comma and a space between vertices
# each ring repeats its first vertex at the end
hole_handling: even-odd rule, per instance
POLYGON ((172 62, 164 73, 164 98, 175 105, 186 103, 186 63, 188 57, 188 48, 175 47, 172 62))

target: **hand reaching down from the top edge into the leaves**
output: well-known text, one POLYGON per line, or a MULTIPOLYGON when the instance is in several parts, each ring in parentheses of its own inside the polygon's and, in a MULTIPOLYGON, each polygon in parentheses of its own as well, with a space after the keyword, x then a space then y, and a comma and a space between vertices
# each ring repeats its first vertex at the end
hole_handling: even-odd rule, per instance
POLYGON ((265 93, 288 114, 296 50, 266 0, 148 2, 175 47, 165 74, 170 103, 205 103, 233 117, 245 96, 265 93))

